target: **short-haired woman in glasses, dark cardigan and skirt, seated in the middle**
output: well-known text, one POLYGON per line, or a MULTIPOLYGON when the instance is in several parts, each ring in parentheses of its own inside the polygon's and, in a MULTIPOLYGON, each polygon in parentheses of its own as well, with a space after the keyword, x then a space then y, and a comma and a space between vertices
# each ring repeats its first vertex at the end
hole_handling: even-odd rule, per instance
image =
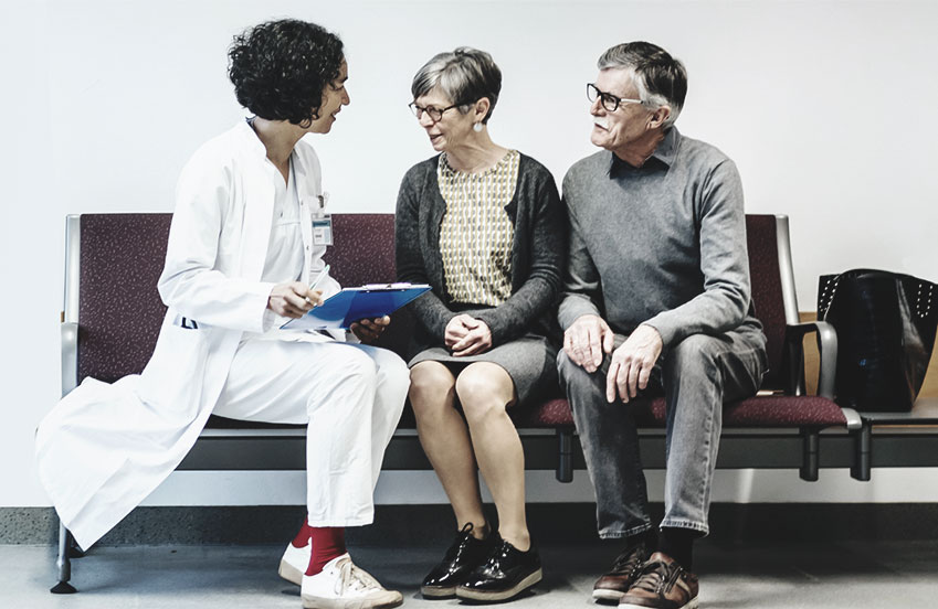
POLYGON ((565 224, 550 173, 488 135, 500 87, 488 53, 468 47, 434 56, 411 85, 410 107, 439 154, 408 171, 398 197, 399 279, 433 288, 411 306, 421 350, 409 364, 410 400, 459 531, 423 580, 425 597, 503 600, 541 577, 521 442, 506 410, 555 385, 548 335, 565 224))

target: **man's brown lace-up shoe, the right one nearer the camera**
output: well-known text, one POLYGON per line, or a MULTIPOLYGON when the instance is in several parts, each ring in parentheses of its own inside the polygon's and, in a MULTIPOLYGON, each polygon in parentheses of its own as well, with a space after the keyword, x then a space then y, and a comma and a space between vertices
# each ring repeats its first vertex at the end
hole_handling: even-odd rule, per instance
POLYGON ((619 609, 697 609, 697 576, 661 552, 652 554, 619 609))

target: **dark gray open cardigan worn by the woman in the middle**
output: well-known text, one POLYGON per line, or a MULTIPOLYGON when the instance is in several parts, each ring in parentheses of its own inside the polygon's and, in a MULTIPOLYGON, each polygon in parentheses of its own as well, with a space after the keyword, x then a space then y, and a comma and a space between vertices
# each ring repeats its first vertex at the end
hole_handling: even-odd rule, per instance
MULTIPOLYGON (((440 224, 446 202, 436 183, 440 156, 413 165, 404 175, 396 213, 398 279, 433 288, 410 307, 433 344, 443 344, 446 324, 456 314, 443 280, 440 224)), ((556 328, 554 307, 567 249, 563 209, 554 177, 525 154, 518 163, 515 195, 505 206, 515 227, 512 244, 512 296, 498 307, 472 310, 498 345, 528 332, 556 328)))

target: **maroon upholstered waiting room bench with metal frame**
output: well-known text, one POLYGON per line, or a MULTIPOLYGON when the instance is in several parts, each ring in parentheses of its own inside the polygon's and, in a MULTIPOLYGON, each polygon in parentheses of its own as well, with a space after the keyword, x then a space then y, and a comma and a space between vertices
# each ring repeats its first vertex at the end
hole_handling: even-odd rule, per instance
MULTIPOLYGON (((152 352, 166 307, 157 292, 171 214, 84 214, 66 221, 65 307, 62 317, 62 393, 87 376, 114 382, 139 373, 152 352), (119 300, 113 296, 120 293, 119 300)), ((394 279, 393 214, 334 214, 326 260, 344 286, 394 279)), ((769 395, 728 404, 718 468, 798 468, 816 480, 821 467, 851 467, 862 455, 864 421, 833 402, 836 335, 823 322, 801 323, 794 293, 788 218, 748 215, 749 264, 757 317, 768 338, 769 395), (821 352, 819 395, 804 392, 803 336, 815 332, 821 352), (822 451, 821 448, 824 448, 822 451)), ((414 320, 403 309, 378 344, 401 353, 414 320)), ((766 393, 766 392, 763 392, 766 393)), ((643 461, 664 468, 664 400, 632 403, 643 461)), ((527 469, 550 469, 561 482, 584 469, 569 404, 560 395, 515 409, 527 469)), ((305 469, 305 428, 212 417, 181 470, 305 469)), ((866 438, 866 440, 864 440, 866 438)), ((428 469, 408 409, 386 455, 384 469, 428 469)), ((867 476, 868 478, 868 476, 867 476)), ((59 585, 74 591, 73 541, 60 526, 59 585)))

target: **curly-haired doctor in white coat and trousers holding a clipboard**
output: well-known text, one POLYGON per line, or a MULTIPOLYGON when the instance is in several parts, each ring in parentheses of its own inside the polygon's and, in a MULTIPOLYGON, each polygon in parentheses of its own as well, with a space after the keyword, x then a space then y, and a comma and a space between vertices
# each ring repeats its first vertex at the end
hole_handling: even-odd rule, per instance
MULTIPOLYGON (((264 23, 235 38, 230 76, 255 116, 203 145, 182 171, 159 292, 168 306, 143 374, 87 378, 42 421, 39 471, 87 548, 179 464, 209 415, 308 423, 308 519, 281 563, 304 607, 389 607, 355 566, 344 527, 373 520, 372 492, 409 372, 390 351, 278 327, 338 291, 313 234, 325 201, 308 133, 342 106, 341 42, 318 25, 264 23)), ((119 295, 114 295, 116 298, 119 295)), ((352 327, 380 334, 388 319, 352 327)))

